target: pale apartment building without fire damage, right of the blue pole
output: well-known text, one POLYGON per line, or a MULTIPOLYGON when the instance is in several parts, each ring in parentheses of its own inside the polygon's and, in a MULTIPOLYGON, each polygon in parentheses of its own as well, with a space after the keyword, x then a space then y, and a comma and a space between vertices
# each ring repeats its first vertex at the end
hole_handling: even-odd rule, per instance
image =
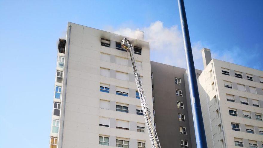
POLYGON ((263 71, 211 59, 202 50, 198 90, 209 148, 263 147, 263 71))

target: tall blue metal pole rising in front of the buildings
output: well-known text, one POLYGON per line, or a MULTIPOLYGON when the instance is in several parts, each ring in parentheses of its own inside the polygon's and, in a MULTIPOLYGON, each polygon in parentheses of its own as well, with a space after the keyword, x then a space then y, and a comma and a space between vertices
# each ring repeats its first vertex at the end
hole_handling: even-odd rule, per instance
POLYGON ((195 127, 195 139, 197 148, 207 148, 207 141, 204 131, 204 122, 201 111, 200 98, 197 87, 197 80, 195 76, 195 65, 193 60, 189 30, 186 20, 186 13, 184 8, 184 0, 178 0, 179 13, 181 18, 181 27, 184 38, 184 49, 186 56, 186 65, 188 72, 188 81, 190 89, 190 97, 192 104, 192 113, 195 127))

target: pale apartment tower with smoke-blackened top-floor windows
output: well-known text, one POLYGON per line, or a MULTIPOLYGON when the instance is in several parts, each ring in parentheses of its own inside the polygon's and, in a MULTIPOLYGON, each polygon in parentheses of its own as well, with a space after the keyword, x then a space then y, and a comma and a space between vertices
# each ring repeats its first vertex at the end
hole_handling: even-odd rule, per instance
MULTIPOLYGON (((142 36, 130 40, 153 112, 149 43, 142 36)), ((66 40, 59 39, 51 148, 151 147, 123 38, 68 23, 66 40)))

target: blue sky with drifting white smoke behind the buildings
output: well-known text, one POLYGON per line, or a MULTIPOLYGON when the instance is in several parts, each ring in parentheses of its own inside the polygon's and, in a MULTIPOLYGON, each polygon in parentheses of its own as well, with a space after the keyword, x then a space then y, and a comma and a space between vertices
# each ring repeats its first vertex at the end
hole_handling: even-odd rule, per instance
MULTIPOLYGON (((187 0, 185 6, 196 68, 202 69, 206 47, 216 59, 263 70, 263 1, 187 0)), ((48 147, 57 42, 67 22, 121 34, 139 28, 152 43, 151 60, 184 67, 176 0, 0 0, 0 14, 0 147, 48 147), (162 42, 154 43, 156 36, 162 42)))

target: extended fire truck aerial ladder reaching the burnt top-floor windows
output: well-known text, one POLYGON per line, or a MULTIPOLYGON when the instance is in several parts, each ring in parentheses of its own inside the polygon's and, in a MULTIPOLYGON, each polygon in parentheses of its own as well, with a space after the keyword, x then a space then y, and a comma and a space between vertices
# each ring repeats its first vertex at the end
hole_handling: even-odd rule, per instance
POLYGON ((132 43, 127 40, 126 38, 124 38, 121 41, 121 47, 123 49, 125 49, 126 51, 128 51, 130 53, 131 56, 131 60, 132 60, 132 67, 133 67, 133 72, 134 72, 134 77, 135 77, 135 83, 137 85, 137 89, 140 95, 140 101, 141 101, 141 106, 143 109, 143 116, 145 119, 145 124, 147 126, 147 130, 149 133, 149 137, 150 137, 150 141, 152 144, 152 148, 161 148, 160 146, 160 142, 156 133, 156 129, 152 120, 152 116, 151 116, 151 111, 150 108, 148 106, 147 100, 146 100, 146 96, 144 94, 144 89, 143 89, 143 85, 142 82, 140 80, 140 74, 137 71, 136 68, 136 64, 135 64, 135 60, 134 60, 134 49, 132 47, 132 43))

